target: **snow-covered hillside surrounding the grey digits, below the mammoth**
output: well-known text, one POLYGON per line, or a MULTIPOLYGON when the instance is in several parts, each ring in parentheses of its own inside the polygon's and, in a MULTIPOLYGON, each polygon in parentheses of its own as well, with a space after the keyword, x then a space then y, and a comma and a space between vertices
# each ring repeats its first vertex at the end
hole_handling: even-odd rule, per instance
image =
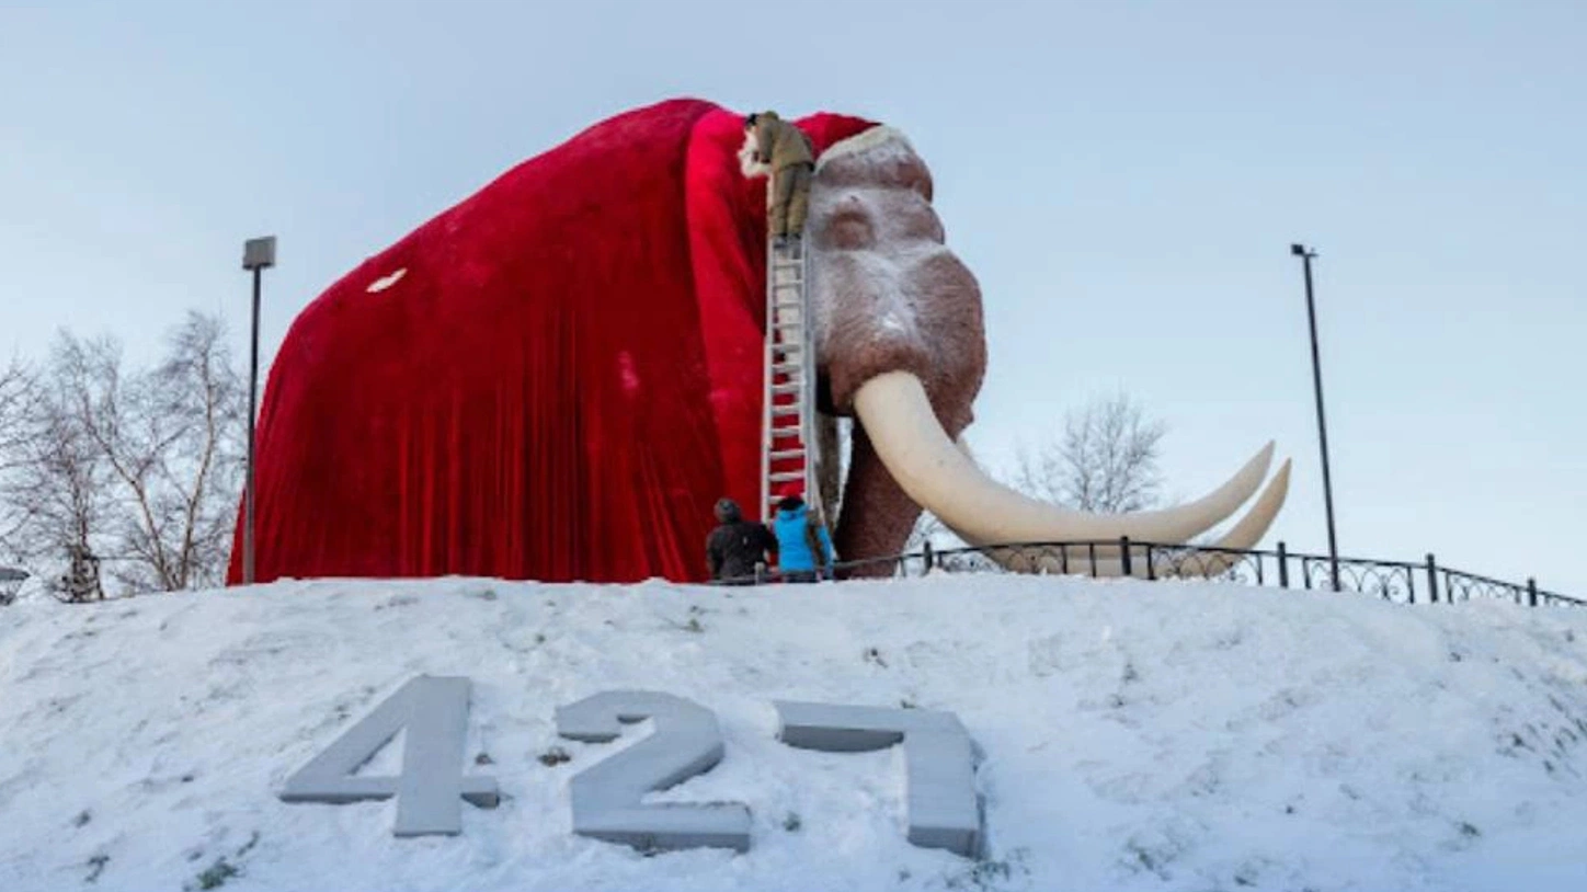
POLYGON ((29 602, 0 609, 0 890, 1581 890, 1584 741, 1568 608, 993 576, 29 602), (425 673, 473 679, 498 808, 395 838, 392 800, 276 797, 425 673), (651 725, 559 738, 606 689, 716 713, 722 762, 655 798, 747 803, 747 852, 571 833, 570 778, 651 725), (901 749, 794 749, 773 700, 955 713, 986 854, 909 844, 901 749))

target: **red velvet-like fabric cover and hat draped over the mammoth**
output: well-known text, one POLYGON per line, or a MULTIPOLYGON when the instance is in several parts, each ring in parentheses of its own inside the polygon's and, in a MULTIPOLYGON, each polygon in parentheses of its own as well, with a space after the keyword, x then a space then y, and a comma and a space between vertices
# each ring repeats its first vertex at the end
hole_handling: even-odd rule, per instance
MULTIPOLYGON (((871 124, 800 125, 822 151, 871 124)), ((759 502, 765 179, 741 143, 708 102, 619 114, 303 310, 260 408, 256 578, 705 578, 714 500, 759 502)), ((233 584, 241 554, 240 517, 233 584)))

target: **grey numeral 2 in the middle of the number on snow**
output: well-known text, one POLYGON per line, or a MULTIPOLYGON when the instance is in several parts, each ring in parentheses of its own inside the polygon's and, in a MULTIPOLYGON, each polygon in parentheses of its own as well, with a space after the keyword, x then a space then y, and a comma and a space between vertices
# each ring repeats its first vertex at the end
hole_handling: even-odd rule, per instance
POLYGON ((749 808, 743 803, 641 805, 644 794, 709 771, 722 760, 716 716, 647 690, 608 690, 557 709, 557 733, 611 741, 621 722, 655 721, 655 733, 573 776, 573 832, 638 849, 717 846, 749 851, 749 808))

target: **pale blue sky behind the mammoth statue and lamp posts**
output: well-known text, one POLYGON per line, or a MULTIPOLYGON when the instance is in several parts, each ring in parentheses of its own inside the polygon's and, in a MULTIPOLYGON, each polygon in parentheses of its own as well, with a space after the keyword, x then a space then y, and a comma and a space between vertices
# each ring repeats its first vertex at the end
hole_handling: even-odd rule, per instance
POLYGON ((1266 438, 1324 549, 1298 262, 1314 244, 1344 554, 1587 595, 1587 3, 0 0, 0 349, 267 357, 362 257, 608 114, 674 95, 909 133, 986 292, 971 441, 1124 387, 1174 492, 1266 438), (246 352, 244 352, 246 356, 246 352))

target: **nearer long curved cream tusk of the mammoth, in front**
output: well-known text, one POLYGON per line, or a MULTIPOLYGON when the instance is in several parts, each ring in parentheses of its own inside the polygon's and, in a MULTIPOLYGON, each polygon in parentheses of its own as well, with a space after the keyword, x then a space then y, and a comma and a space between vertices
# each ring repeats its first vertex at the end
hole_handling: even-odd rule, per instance
POLYGON ((1028 498, 987 478, 949 441, 925 387, 908 371, 868 379, 854 395, 854 411, 909 498, 971 544, 1120 536, 1182 543, 1217 525, 1251 498, 1273 460, 1268 443, 1228 483, 1189 505, 1135 514, 1089 514, 1028 498))

